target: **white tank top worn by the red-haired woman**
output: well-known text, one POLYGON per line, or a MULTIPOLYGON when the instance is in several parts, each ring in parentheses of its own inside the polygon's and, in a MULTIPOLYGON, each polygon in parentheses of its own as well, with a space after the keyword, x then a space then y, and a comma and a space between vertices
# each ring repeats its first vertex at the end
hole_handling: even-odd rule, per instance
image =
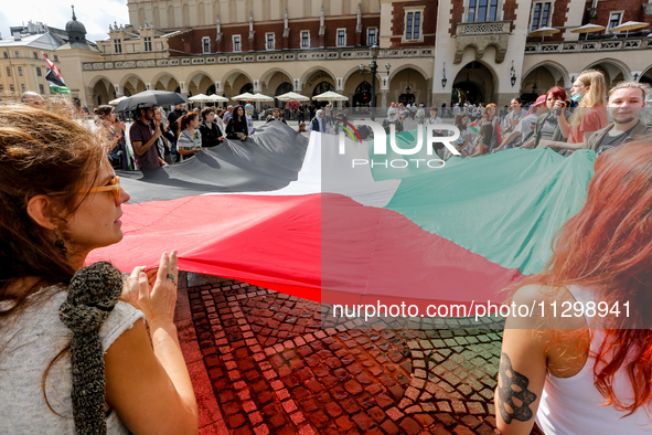
MULTIPOLYGON (((570 294, 577 301, 586 304, 595 301, 591 290, 571 286, 570 294)), ((591 318, 587 322, 591 325, 591 318)), ((591 352, 595 354, 602 341, 605 332, 590 329, 591 352)), ((613 406, 601 406, 605 397, 594 384, 594 364, 589 357, 579 373, 571 378, 556 378, 549 372, 536 413, 536 424, 546 435, 613 435, 613 434, 652 434, 652 423, 645 410, 639 409, 629 417, 613 406)), ((631 403, 633 397, 631 384, 624 370, 619 370, 613 379, 616 396, 623 403, 631 403)))

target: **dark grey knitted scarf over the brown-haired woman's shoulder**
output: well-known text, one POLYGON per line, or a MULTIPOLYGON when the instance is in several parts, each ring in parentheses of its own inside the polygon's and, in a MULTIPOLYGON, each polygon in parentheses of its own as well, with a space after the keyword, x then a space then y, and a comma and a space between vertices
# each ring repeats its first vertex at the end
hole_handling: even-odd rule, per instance
POLYGON ((84 267, 73 276, 58 318, 71 329, 73 417, 76 434, 106 434, 104 354, 99 328, 118 303, 122 275, 108 262, 84 267))

